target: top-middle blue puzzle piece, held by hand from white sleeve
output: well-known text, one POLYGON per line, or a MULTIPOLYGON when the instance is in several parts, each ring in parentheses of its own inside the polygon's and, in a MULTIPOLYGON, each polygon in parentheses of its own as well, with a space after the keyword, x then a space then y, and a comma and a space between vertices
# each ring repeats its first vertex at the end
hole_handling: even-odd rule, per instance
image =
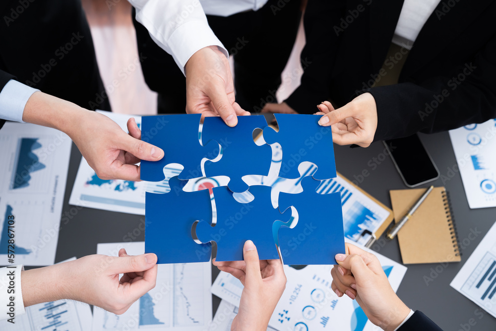
POLYGON ((203 122, 201 140, 203 143, 215 140, 222 146, 222 158, 217 162, 205 162, 205 176, 227 176, 228 187, 236 193, 248 190, 242 180, 246 175, 269 173, 272 159, 270 146, 257 146, 253 141, 253 130, 265 128, 267 122, 261 115, 240 116, 238 125, 228 127, 220 117, 207 117, 203 122))

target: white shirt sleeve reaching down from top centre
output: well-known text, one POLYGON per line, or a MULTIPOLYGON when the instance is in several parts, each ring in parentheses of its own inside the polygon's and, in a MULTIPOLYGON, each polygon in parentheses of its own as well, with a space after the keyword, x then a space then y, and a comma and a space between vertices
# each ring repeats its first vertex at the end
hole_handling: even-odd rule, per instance
POLYGON ((128 0, 136 8, 136 20, 153 41, 172 55, 181 71, 189 58, 207 46, 217 46, 229 57, 208 25, 199 0, 128 0))

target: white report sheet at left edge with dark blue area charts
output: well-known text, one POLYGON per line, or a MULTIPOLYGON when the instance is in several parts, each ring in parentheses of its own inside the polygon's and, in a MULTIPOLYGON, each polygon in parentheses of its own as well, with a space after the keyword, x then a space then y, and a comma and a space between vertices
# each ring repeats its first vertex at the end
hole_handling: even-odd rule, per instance
POLYGON ((5 123, 0 146, 0 265, 53 265, 72 141, 55 129, 5 123))

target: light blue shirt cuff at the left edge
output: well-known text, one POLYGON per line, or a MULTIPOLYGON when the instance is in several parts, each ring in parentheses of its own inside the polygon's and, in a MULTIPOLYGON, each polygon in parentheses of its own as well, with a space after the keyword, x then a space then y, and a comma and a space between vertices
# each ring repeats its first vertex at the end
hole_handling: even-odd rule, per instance
POLYGON ((0 92, 0 119, 24 123, 24 107, 36 91, 39 90, 10 79, 0 92))

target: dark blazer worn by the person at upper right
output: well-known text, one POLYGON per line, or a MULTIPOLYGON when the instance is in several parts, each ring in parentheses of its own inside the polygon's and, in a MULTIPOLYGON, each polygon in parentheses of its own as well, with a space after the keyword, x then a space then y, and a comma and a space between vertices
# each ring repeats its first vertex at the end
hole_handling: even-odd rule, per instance
POLYGON ((402 0, 309 0, 301 56, 305 72, 286 102, 310 114, 323 100, 341 107, 369 91, 377 105, 374 140, 495 118, 494 0, 441 1, 420 31, 399 83, 370 88, 402 6, 402 0))

